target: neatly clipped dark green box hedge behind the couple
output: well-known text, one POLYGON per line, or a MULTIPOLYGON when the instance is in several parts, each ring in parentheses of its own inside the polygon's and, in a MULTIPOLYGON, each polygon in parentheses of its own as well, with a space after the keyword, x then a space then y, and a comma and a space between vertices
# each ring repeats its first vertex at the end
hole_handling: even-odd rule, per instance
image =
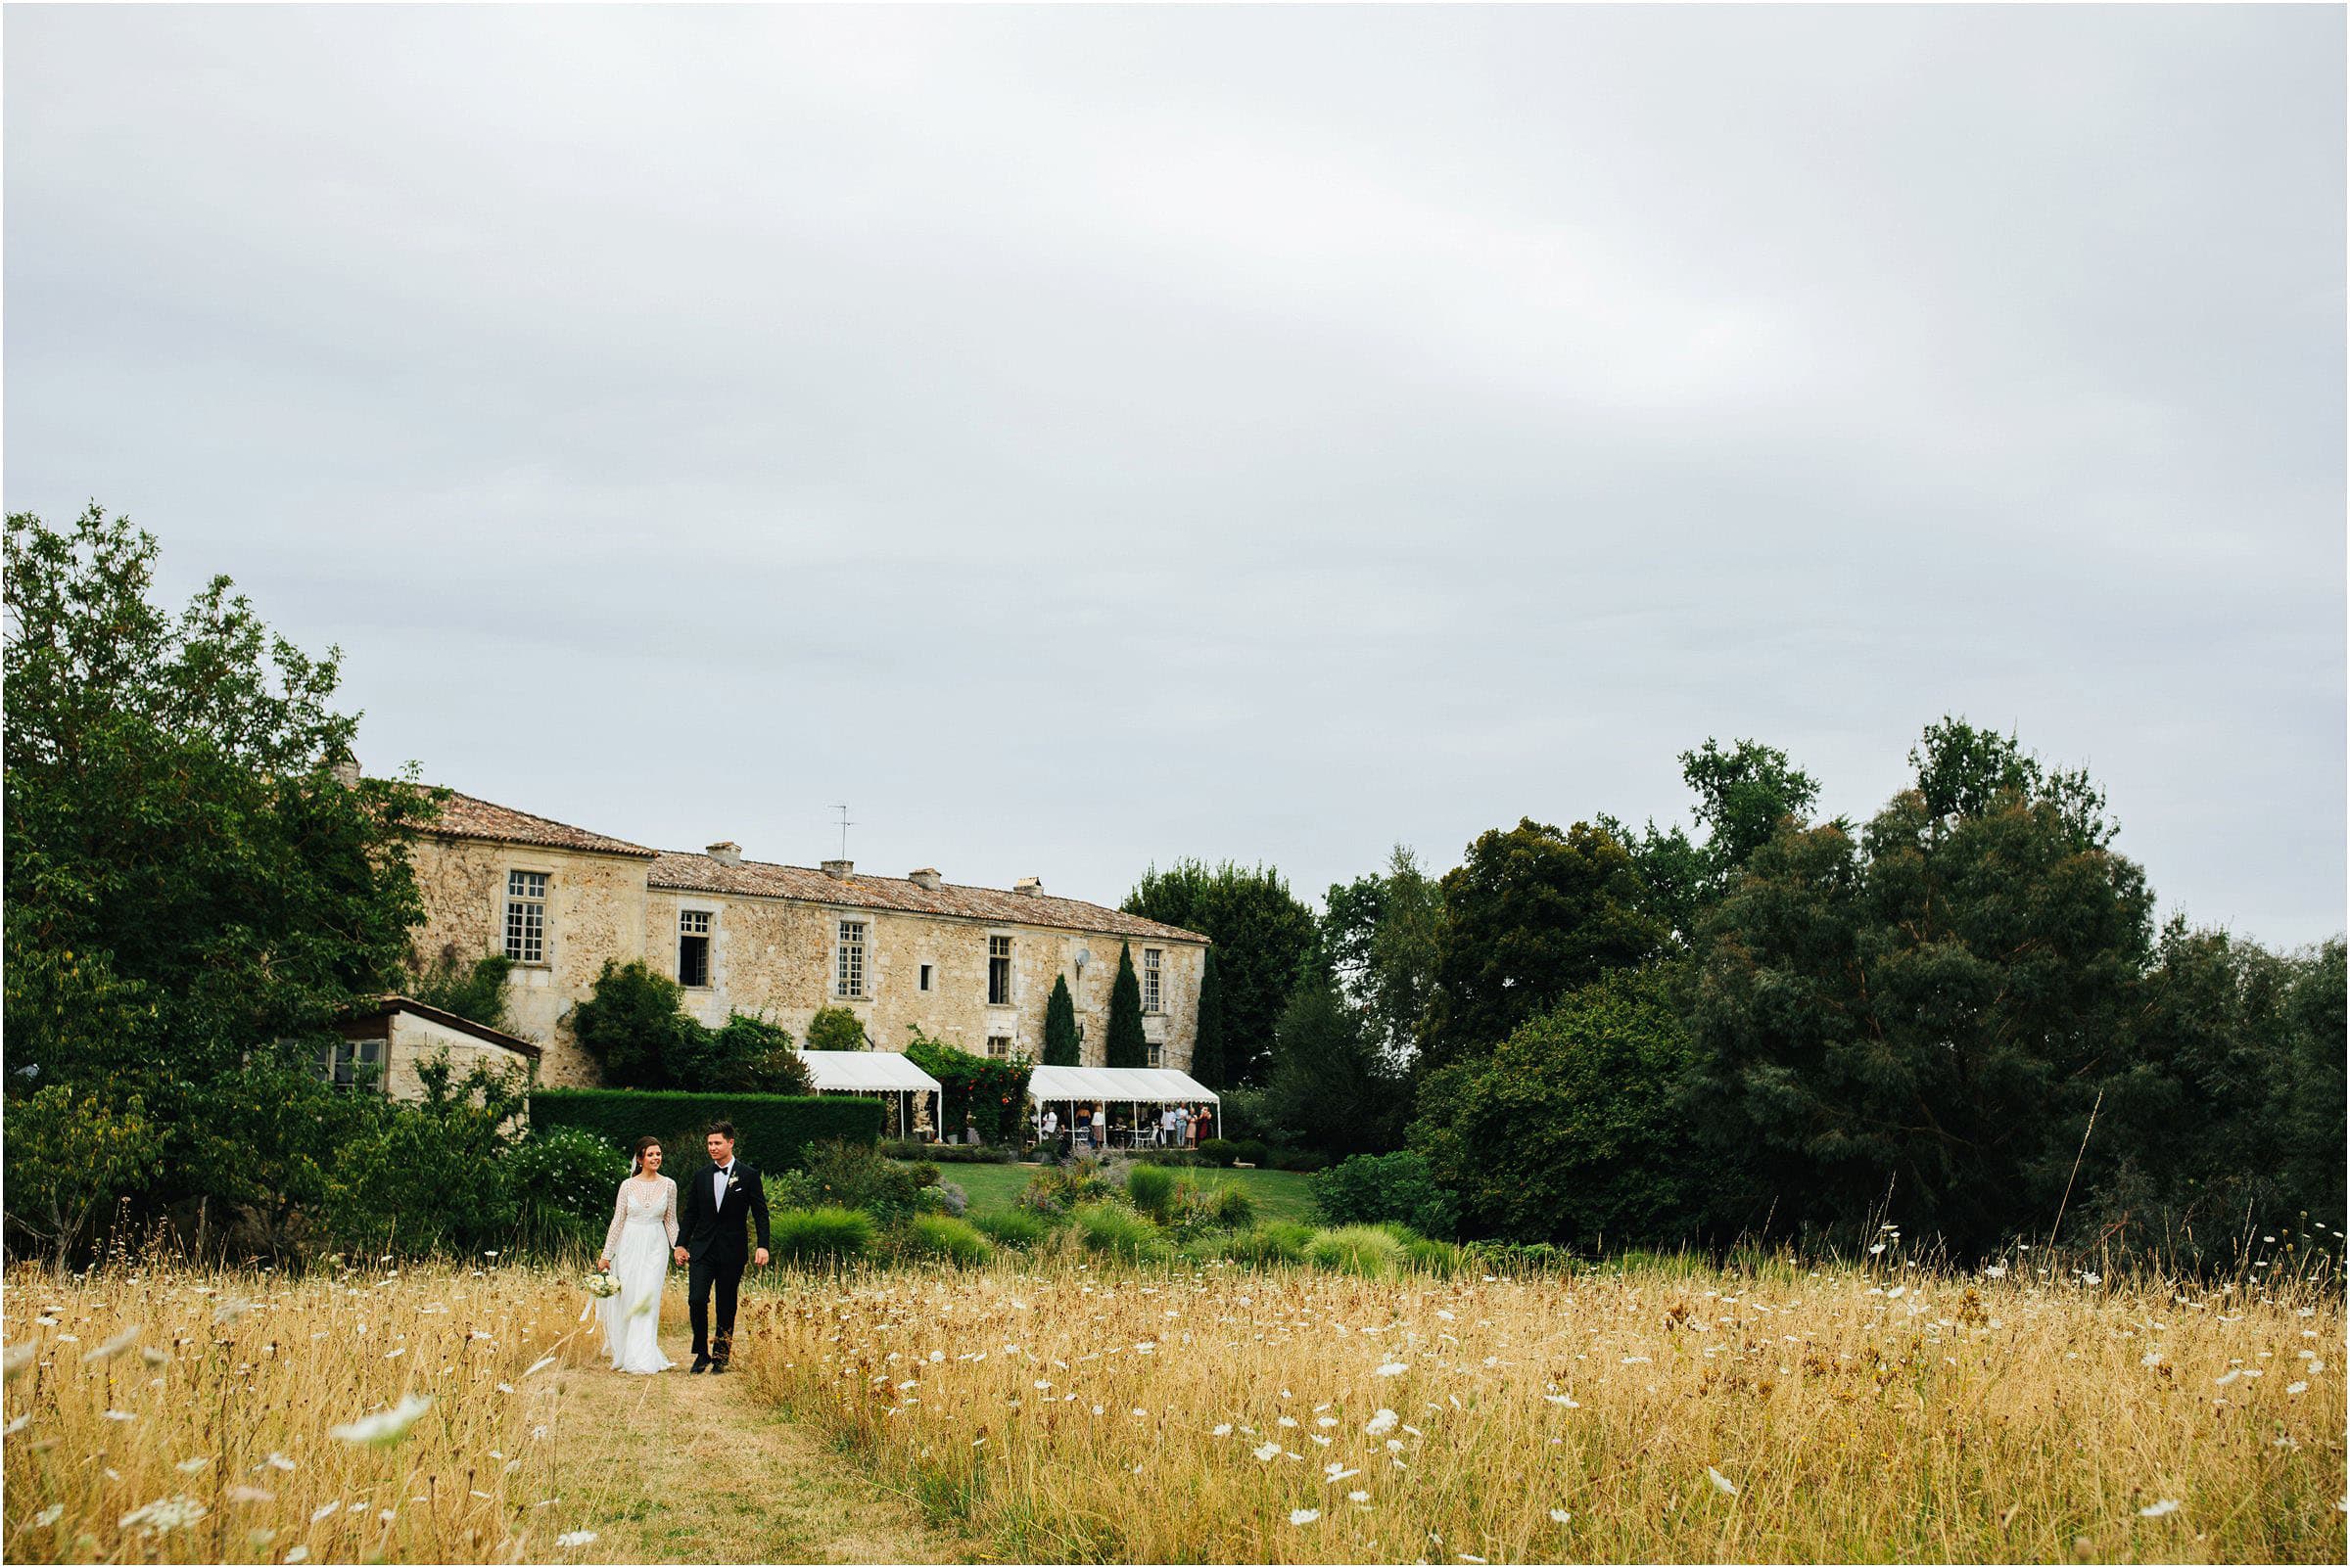
POLYGON ((881 1101, 860 1094, 689 1094, 679 1089, 536 1089, 531 1127, 580 1127, 616 1148, 651 1134, 674 1176, 705 1162, 710 1122, 736 1124, 736 1153, 764 1171, 790 1171, 818 1138, 879 1143, 881 1101))

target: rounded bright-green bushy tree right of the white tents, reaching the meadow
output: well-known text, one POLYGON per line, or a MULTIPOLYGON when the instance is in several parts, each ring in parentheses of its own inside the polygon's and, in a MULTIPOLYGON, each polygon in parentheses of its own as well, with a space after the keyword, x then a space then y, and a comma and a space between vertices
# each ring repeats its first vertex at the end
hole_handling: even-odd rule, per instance
POLYGON ((1495 1052, 1426 1075, 1412 1148, 1478 1232, 1676 1242, 1711 1195, 1676 1103, 1690 1063, 1666 974, 1614 969, 1495 1052))

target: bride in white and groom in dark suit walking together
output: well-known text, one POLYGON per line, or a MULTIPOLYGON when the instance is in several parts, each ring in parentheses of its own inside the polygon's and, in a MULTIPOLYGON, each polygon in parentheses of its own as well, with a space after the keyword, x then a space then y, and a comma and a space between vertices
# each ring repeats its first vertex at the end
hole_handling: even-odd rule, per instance
POLYGON ((714 1122, 703 1138, 710 1164, 679 1188, 660 1174, 660 1138, 637 1138, 597 1261, 620 1286, 597 1303, 613 1371, 658 1373, 674 1366, 660 1354, 660 1293, 672 1261, 686 1270, 686 1312, 693 1319, 689 1371, 726 1371, 743 1265, 757 1261, 766 1268, 766 1185, 759 1167, 736 1160, 733 1145, 733 1122, 714 1122), (757 1249, 745 1223, 759 1232, 757 1249), (710 1333, 712 1289, 719 1298, 717 1336, 710 1333))

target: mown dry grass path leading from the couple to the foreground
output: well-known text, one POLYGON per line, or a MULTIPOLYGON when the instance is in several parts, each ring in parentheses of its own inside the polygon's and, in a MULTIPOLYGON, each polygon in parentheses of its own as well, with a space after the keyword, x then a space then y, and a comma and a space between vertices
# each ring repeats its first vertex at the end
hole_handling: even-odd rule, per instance
MULTIPOLYGON (((747 1303, 745 1303, 747 1305, 747 1303)), ((599 1563, 954 1563, 975 1547, 924 1523, 921 1507, 851 1469, 841 1453, 740 1371, 686 1376, 684 1293, 663 1312, 677 1368, 653 1378, 599 1364, 548 1373, 540 1420, 566 1493, 524 1547, 531 1561, 599 1563), (597 1540, 562 1549, 564 1530, 597 1540)))

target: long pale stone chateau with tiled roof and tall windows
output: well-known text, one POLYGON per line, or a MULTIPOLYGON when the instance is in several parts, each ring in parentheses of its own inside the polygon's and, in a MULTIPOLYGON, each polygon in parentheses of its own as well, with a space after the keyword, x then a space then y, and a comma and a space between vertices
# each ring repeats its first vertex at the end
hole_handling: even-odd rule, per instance
POLYGON ((505 953, 505 1028, 540 1047, 538 1080, 595 1084, 559 1026, 606 958, 642 958, 686 988, 703 1023, 764 1014, 806 1040, 818 1007, 846 1007, 874 1047, 902 1052, 907 1023, 980 1056, 1043 1054, 1053 976, 1076 1002, 1083 1066, 1102 1066, 1119 944, 1142 981, 1149 1066, 1189 1068, 1208 939, 1100 904, 1055 899, 1036 878, 959 887, 924 869, 860 876, 646 850, 505 805, 454 796, 414 845, 425 922, 418 953, 505 953))

